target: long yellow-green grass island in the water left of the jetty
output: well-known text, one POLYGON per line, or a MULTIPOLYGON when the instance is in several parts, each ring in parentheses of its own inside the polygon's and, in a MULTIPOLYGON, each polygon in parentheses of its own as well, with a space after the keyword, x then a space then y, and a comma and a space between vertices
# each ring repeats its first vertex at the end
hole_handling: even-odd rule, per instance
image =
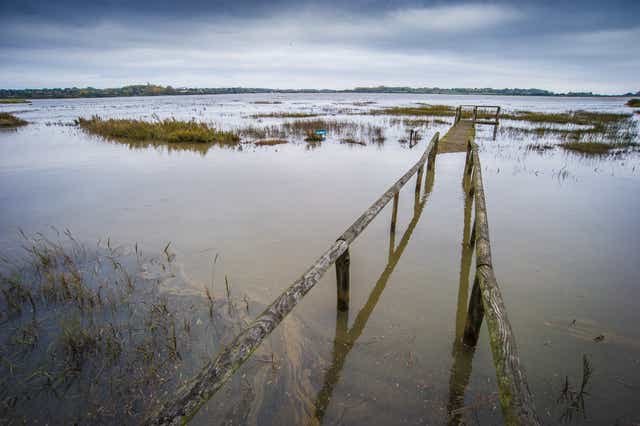
POLYGON ((76 123, 85 131, 105 138, 123 141, 149 141, 164 143, 205 143, 237 145, 240 137, 196 121, 175 119, 153 122, 128 119, 78 118, 76 123))

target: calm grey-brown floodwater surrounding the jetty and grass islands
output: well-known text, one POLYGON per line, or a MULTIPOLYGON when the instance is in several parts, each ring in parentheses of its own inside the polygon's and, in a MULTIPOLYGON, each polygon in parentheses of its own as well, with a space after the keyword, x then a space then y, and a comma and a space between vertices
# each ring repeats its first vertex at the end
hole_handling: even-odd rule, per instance
MULTIPOLYGON (((401 122, 358 115, 416 102, 625 111, 621 98, 373 94, 4 105, 31 124, 0 132, 0 251, 20 252, 19 229, 51 226, 87 243, 110 238, 160 252, 171 242, 194 288, 211 281, 218 255, 217 283, 227 276, 235 296, 268 305, 417 161, 436 131, 446 132, 447 124, 426 126, 409 148, 399 142, 401 122), (283 121, 254 114, 291 111, 381 125, 386 141, 353 146, 329 135, 314 149, 292 141, 173 150, 108 142, 71 125, 97 114, 194 118, 232 130, 283 121)), ((498 131, 494 140, 490 127, 478 128, 477 142, 494 267, 539 415, 547 424, 640 422, 640 156, 538 153, 524 137, 498 131), (594 373, 584 406, 572 409, 562 388, 567 379, 580 386, 585 355, 594 373)), ((390 205, 353 244, 348 318, 336 315, 331 269, 266 342, 262 355, 275 361, 245 364, 194 424, 500 424, 486 329, 474 353, 455 345, 457 312, 470 292, 469 259, 461 258, 463 164, 464 154, 439 155, 433 190, 417 209, 415 183, 405 186, 391 257, 390 205)))

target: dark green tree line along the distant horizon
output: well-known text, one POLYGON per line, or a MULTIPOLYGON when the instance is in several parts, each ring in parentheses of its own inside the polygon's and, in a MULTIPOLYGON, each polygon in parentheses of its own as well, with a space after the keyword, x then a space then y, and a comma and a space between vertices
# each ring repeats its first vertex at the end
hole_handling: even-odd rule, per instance
MULTIPOLYGON (((238 93, 412 93, 445 95, 507 95, 507 96, 604 96, 592 92, 554 93, 542 89, 493 89, 493 88, 452 88, 439 87, 356 87, 348 90, 330 89, 266 89, 251 87, 221 88, 174 88, 153 84, 139 84, 111 89, 94 87, 70 87, 53 89, 0 89, 0 98, 6 99, 58 99, 58 98, 108 98, 120 96, 172 96, 172 95, 220 95, 238 93)), ((620 96, 640 96, 625 93, 620 96)))

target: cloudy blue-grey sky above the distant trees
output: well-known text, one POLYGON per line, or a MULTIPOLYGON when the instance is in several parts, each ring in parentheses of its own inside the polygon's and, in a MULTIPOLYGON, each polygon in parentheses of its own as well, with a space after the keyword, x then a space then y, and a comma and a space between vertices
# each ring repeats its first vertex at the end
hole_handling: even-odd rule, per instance
POLYGON ((0 0, 0 88, 640 90, 640 0, 0 0))

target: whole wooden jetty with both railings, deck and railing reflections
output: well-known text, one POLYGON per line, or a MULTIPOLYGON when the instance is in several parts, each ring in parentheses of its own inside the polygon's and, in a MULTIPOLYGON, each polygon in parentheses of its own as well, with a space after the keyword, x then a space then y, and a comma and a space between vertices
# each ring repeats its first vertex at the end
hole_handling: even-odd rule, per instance
MULTIPOLYGON (((482 110, 482 111, 484 111, 482 110)), ((316 417, 322 419, 339 372, 355 341, 379 301, 389 276, 393 272, 404 247, 415 228, 434 183, 437 153, 466 152, 463 170, 465 190, 465 228, 463 235, 463 256, 461 260, 458 313, 456 315, 456 337, 454 340, 454 368, 459 377, 452 377, 450 389, 450 419, 456 423, 459 401, 464 399, 464 390, 470 375, 480 325, 486 320, 493 354, 498 392, 505 424, 538 425, 533 396, 529 390, 527 377, 521 365, 515 336, 507 316, 498 283, 493 272, 489 225, 482 182, 482 167, 474 143, 475 125, 492 124, 497 127, 500 107, 460 106, 456 112, 454 125, 440 139, 436 133, 428 143, 424 153, 400 179, 378 198, 336 241, 311 265, 307 271, 285 290, 276 300, 243 330, 234 341, 222 349, 208 362, 202 371, 183 385, 175 395, 147 419, 149 425, 178 425, 187 423, 245 362, 260 343, 278 326, 300 300, 320 281, 322 276, 335 264, 336 289, 336 345, 334 345, 332 368, 327 372, 324 386, 317 397, 316 417), (471 113, 469 113, 469 108, 471 113), (494 120, 486 119, 479 109, 494 108, 494 120), (466 112, 465 112, 466 111, 466 112), (465 117, 469 115, 469 117, 465 117), (426 178, 423 188, 423 176, 426 178), (399 245, 395 246, 396 219, 400 190, 413 176, 416 176, 414 216, 399 245), (349 246, 366 229, 382 209, 393 200, 389 238, 389 263, 369 296, 369 300, 358 313, 351 327, 347 328, 349 311, 349 246), (475 205, 474 225, 469 226, 471 208, 475 205), (468 298, 468 275, 471 255, 475 247, 476 272, 471 297, 468 298), (465 254, 466 253, 466 254, 465 254), (466 280, 466 281, 465 281, 466 280), (465 283, 463 285, 463 283, 465 283), (466 307, 466 309, 465 309, 466 307), (338 345, 339 342, 339 345, 338 345), (458 368, 456 368, 456 365, 458 368), (457 408, 456 408, 457 407, 457 408)))

